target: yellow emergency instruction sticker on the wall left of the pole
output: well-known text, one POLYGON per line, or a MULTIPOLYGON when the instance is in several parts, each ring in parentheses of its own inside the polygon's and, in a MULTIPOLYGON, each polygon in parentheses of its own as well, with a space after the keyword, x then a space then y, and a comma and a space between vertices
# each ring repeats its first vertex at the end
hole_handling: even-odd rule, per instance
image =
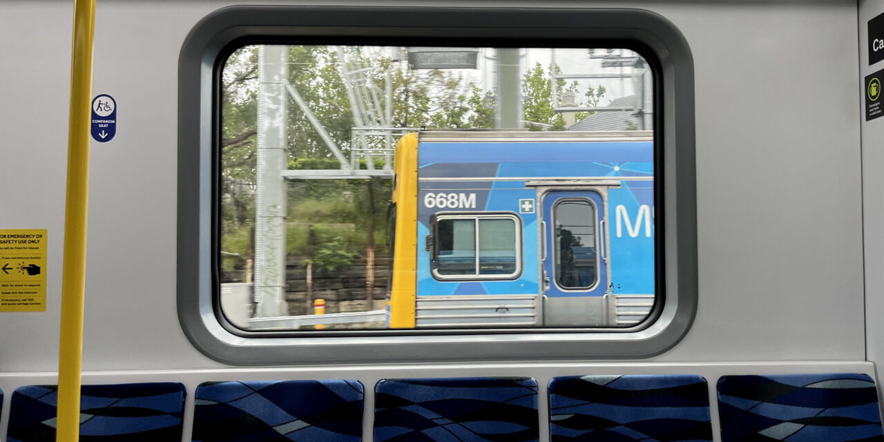
POLYGON ((0 229, 0 312, 46 311, 46 229, 0 229))

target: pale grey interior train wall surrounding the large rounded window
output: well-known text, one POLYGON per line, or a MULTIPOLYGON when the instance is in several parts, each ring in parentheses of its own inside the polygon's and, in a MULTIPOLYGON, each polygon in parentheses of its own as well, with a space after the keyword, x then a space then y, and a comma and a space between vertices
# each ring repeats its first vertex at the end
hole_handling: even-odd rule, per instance
MULTIPOLYGON (((192 392, 199 382, 231 379, 357 378, 370 386, 383 377, 507 375, 545 385, 560 375, 696 373, 714 385, 724 374, 874 375, 884 356, 877 314, 884 311, 884 205, 876 190, 884 186, 884 120, 865 122, 861 79, 878 69, 866 60, 865 22, 884 2, 628 4, 671 20, 694 57, 699 303, 674 348, 637 361, 258 368, 201 354, 176 310, 179 52, 200 19, 228 4, 99 2, 93 91, 117 99, 118 134, 92 144, 84 383, 176 381, 192 392)), ((46 312, 0 313, 7 393, 55 382, 71 18, 69 2, 0 4, 0 227, 49 231, 46 312)), ((373 398, 366 400, 370 410, 373 398)), ((8 410, 7 400, 0 439, 8 410)))

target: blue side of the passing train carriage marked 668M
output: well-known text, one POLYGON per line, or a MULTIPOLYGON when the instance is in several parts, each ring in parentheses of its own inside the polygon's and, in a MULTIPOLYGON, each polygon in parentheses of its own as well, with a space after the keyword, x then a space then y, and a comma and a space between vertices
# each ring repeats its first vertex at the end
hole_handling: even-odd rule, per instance
POLYGON ((416 280, 394 256, 392 321, 641 322, 654 301, 652 155, 644 132, 420 133, 416 172, 397 166, 397 187, 416 179, 416 280), (413 308, 395 299, 404 284, 413 308))

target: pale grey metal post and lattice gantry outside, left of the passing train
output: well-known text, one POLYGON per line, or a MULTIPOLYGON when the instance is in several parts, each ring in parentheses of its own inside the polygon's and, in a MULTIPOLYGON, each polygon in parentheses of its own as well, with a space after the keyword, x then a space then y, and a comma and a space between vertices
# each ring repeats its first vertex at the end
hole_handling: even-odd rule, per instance
MULTIPOLYGON (((285 46, 262 46, 259 50, 260 88, 258 96, 257 186, 258 208, 255 228, 255 318, 261 324, 291 326, 297 324, 331 324, 364 322, 384 316, 385 311, 362 314, 324 315, 324 318, 286 316, 286 179, 369 179, 392 178, 393 139, 414 129, 392 127, 392 80, 384 76, 383 92, 370 75, 358 50, 338 49, 341 78, 347 88, 354 117, 350 157, 331 138, 308 103, 288 80, 285 46), (287 107, 288 98, 298 106, 316 130, 339 169, 287 169, 287 107), (375 165, 376 158, 382 166, 375 165), (366 169, 361 162, 365 161, 366 169), (368 319, 367 319, 368 318, 368 319), (270 321, 270 322, 268 322, 270 321), (294 321, 294 323, 293 323, 294 321), (300 321, 300 322, 299 322, 300 321), (306 322, 304 322, 306 321, 306 322), (311 322, 312 321, 312 322, 311 322)), ((255 323, 257 324, 257 323, 255 323)))

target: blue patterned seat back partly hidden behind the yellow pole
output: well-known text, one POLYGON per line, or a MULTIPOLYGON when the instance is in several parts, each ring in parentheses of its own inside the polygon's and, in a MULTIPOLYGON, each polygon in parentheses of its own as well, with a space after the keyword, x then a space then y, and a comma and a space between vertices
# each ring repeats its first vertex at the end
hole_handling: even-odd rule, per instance
MULTIPOLYGON (((83 385, 80 441, 179 442, 184 385, 83 385)), ((54 442, 57 386, 28 385, 12 392, 8 442, 54 442)))

